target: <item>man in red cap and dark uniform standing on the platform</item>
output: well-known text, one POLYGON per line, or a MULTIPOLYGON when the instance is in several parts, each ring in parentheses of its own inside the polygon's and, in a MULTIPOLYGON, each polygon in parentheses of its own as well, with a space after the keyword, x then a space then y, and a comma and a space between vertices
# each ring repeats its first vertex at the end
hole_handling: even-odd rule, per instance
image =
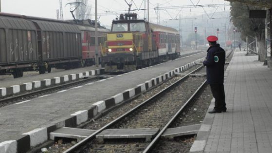
POLYGON ((207 37, 209 41, 209 49, 207 57, 203 61, 207 71, 207 83, 211 86, 211 91, 215 100, 215 107, 209 113, 226 112, 225 90, 224 90, 224 67, 226 53, 224 49, 216 42, 216 36, 207 37))

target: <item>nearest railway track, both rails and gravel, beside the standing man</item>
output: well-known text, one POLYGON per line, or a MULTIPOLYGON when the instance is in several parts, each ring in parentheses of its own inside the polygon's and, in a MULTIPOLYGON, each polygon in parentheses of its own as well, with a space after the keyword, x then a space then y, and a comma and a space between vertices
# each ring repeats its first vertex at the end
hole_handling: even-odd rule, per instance
MULTIPOLYGON (((202 66, 200 68, 202 68, 202 66)), ((96 130, 95 133, 80 141, 65 153, 92 151, 126 152, 129 149, 133 149, 135 152, 149 152, 157 144, 167 127, 185 109, 185 106, 190 103, 191 99, 197 95, 201 87, 203 87, 205 84, 205 78, 203 77, 190 77, 190 74, 195 73, 199 69, 196 69, 186 76, 179 78, 172 85, 165 88, 158 94, 148 98, 127 113, 96 130), (191 90, 185 90, 186 88, 191 90), (112 128, 152 128, 160 129, 160 132, 157 133, 151 142, 145 142, 141 139, 136 139, 136 141, 124 139, 121 139, 120 141, 117 139, 118 141, 115 141, 114 144, 112 144, 112 141, 109 141, 109 143, 100 143, 97 139, 95 139, 97 134, 106 129, 112 128)))

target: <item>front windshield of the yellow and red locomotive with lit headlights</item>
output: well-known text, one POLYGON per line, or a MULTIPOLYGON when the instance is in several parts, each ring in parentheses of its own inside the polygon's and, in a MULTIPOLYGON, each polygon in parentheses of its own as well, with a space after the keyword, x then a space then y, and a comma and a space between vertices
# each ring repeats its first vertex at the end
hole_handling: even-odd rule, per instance
POLYGON ((145 22, 136 22, 136 23, 113 23, 112 32, 121 32, 121 31, 139 31, 145 32, 145 22), (129 26, 129 29, 128 29, 129 26))

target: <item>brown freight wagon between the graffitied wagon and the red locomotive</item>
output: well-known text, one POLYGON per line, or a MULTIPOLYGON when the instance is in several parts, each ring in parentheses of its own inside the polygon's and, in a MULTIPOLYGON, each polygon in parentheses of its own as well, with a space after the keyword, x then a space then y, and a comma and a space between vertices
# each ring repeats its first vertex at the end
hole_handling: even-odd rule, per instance
POLYGON ((37 29, 39 73, 51 72, 52 67, 76 67, 82 58, 81 31, 68 21, 26 17, 37 29))

